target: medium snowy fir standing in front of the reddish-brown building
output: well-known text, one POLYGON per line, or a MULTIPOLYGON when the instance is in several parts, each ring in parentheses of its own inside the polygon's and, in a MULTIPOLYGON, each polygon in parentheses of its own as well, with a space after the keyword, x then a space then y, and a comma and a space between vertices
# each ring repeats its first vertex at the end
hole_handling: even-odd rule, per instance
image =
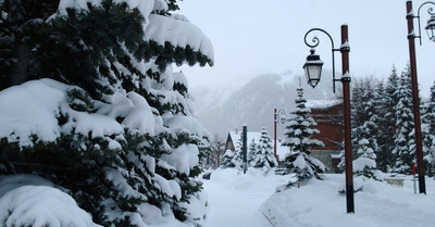
POLYGON ((285 165, 288 173, 298 175, 300 180, 310 179, 313 176, 320 178, 318 173, 323 173, 325 166, 311 154, 312 147, 323 147, 323 142, 311 139, 314 134, 320 134, 319 129, 313 128, 318 124, 310 116, 311 110, 306 106, 307 100, 303 98, 303 89, 297 89, 295 99, 296 108, 290 112, 286 119, 283 146, 290 147, 291 152, 285 157, 285 165))

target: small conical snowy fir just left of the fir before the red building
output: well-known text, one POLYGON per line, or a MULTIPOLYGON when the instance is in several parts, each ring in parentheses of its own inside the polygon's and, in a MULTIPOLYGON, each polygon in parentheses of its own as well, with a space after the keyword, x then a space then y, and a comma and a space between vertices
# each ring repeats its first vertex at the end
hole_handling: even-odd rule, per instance
POLYGON ((277 167, 276 159, 273 154, 273 144, 269 133, 263 127, 259 143, 256 146, 250 166, 261 168, 264 174, 270 169, 277 167))

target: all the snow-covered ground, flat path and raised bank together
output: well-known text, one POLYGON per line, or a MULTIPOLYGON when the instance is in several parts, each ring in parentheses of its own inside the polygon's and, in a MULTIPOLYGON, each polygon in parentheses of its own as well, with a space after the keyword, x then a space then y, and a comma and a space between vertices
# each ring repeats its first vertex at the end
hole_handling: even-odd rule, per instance
POLYGON ((249 168, 216 169, 210 180, 202 180, 209 194, 204 227, 427 227, 434 226, 435 181, 426 178, 427 194, 414 194, 411 177, 403 186, 356 179, 363 189, 355 194, 356 213, 346 212, 343 174, 322 175, 300 188, 275 193, 289 176, 249 168), (268 218, 266 218, 268 217, 268 218))

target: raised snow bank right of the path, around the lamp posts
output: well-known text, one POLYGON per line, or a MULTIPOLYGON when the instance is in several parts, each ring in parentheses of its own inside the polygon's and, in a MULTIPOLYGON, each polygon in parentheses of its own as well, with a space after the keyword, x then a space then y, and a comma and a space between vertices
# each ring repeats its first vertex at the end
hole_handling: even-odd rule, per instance
POLYGON ((325 180, 310 180, 300 188, 272 194, 261 206, 275 227, 323 226, 432 226, 435 185, 427 196, 413 194, 411 181, 403 188, 364 178, 362 191, 355 193, 355 214, 346 213, 346 196, 338 193, 344 175, 323 175, 325 180))

